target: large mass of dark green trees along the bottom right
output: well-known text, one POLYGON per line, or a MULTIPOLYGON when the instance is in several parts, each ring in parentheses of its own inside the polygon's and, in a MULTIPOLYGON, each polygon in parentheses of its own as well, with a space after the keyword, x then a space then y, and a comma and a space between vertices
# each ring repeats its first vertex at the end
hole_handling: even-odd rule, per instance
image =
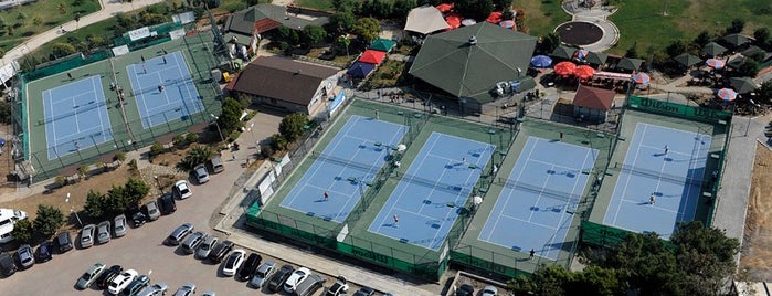
POLYGON ((680 224, 666 242, 656 233, 632 234, 606 252, 588 252, 583 271, 552 265, 510 281, 518 295, 718 295, 734 273, 740 243, 701 222, 680 224))

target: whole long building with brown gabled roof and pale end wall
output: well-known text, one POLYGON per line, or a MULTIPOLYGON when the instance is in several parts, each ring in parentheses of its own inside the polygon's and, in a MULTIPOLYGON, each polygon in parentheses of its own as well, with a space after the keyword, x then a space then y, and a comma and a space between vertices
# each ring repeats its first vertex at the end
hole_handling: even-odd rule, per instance
POLYGON ((255 104, 315 116, 326 108, 342 72, 279 56, 261 56, 232 80, 226 91, 255 104))

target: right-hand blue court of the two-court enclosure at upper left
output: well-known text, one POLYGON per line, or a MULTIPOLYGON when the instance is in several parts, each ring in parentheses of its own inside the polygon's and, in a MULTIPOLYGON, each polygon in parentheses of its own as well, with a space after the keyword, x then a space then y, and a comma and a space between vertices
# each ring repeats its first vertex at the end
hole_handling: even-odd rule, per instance
POLYGON ((203 110, 199 91, 181 52, 130 64, 126 71, 137 98, 142 127, 150 128, 203 110))

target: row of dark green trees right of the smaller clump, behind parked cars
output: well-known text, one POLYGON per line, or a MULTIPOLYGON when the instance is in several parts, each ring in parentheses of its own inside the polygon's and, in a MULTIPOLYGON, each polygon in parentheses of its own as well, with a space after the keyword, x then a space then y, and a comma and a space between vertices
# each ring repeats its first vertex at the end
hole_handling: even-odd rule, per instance
POLYGON ((129 178, 124 186, 113 186, 107 193, 88 191, 83 210, 88 216, 95 219, 113 216, 138 207, 149 191, 150 187, 145 181, 129 178))

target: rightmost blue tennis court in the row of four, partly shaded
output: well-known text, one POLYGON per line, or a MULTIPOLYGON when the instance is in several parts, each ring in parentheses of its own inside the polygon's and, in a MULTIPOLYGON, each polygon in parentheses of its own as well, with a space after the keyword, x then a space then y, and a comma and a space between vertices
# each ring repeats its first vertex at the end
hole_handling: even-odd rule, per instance
POLYGON ((694 220, 711 140, 710 135, 637 124, 603 222, 669 239, 676 223, 694 220))

